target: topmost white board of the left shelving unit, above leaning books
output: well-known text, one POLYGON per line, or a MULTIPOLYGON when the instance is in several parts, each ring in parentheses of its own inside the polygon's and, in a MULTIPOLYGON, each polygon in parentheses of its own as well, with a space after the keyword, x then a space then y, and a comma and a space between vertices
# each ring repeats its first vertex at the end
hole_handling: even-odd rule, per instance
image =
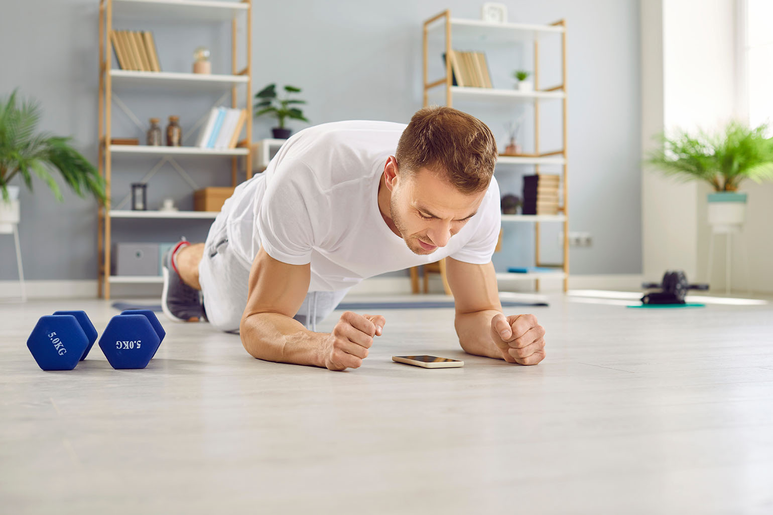
POLYGON ((247 4, 242 2, 113 0, 114 18, 142 18, 173 22, 185 20, 226 22, 247 12, 247 4))

